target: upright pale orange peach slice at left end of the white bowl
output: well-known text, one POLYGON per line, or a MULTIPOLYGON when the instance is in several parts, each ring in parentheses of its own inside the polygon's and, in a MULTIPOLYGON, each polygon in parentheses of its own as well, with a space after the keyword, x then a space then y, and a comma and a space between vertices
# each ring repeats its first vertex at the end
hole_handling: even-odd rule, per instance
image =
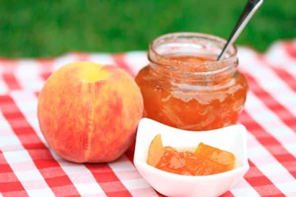
POLYGON ((148 151, 147 164, 155 166, 164 154, 161 135, 157 134, 151 141, 148 151))

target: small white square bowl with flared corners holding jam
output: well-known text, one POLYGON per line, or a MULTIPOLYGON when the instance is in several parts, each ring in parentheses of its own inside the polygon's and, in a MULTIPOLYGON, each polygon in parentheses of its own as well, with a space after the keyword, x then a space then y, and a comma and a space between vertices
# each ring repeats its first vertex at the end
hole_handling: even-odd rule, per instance
POLYGON ((169 197, 217 197, 227 192, 249 169, 247 133, 243 125, 233 125, 212 131, 185 131, 148 118, 138 127, 134 164, 143 178, 159 193, 169 197), (200 142, 233 153, 234 169, 206 176, 169 173, 146 163, 149 145, 161 134, 163 146, 197 147, 200 142))

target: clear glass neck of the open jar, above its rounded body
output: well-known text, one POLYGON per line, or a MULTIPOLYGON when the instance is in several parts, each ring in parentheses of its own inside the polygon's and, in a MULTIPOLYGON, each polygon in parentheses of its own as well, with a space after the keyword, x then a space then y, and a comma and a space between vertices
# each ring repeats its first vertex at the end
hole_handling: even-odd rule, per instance
POLYGON ((225 43, 226 40, 209 34, 169 33, 150 43, 148 60, 155 73, 164 78, 179 83, 215 83, 231 78, 238 65, 234 45, 229 47, 224 59, 216 61, 225 43), (177 57, 205 61, 184 61, 177 57))

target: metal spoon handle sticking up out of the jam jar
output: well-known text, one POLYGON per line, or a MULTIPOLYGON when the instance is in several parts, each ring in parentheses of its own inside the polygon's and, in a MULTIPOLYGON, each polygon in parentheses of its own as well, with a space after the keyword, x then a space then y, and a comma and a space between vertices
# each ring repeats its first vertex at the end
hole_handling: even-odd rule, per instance
POLYGON ((242 32, 245 28, 247 23, 250 21, 251 17, 255 14, 258 10, 260 5, 262 4, 263 0, 249 0, 237 21, 232 33, 230 34, 227 43, 225 44, 224 48, 222 49, 221 54, 218 57, 218 60, 221 60, 224 53, 227 51, 228 47, 236 40, 238 35, 242 32))

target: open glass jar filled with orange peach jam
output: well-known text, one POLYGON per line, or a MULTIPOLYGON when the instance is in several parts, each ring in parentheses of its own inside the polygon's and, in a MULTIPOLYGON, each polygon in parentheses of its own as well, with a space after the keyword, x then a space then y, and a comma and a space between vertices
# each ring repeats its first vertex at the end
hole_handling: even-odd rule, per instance
POLYGON ((149 45, 148 60, 136 76, 145 117, 191 131, 236 124, 248 84, 236 69, 236 47, 216 61, 226 41, 203 33, 169 33, 149 45))

